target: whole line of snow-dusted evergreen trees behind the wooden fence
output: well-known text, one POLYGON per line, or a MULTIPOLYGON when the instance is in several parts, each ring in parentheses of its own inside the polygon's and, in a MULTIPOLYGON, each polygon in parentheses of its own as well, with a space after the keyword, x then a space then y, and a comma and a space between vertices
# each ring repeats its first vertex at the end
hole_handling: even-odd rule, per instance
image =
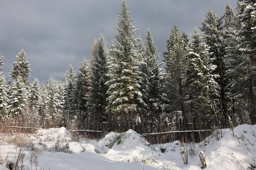
POLYGON ((133 116, 140 121, 140 115, 152 120, 171 116, 184 130, 189 123, 256 123, 253 0, 238 0, 235 10, 227 4, 221 17, 209 9, 190 38, 174 26, 160 64, 150 29, 143 40, 132 21, 123 0, 115 40, 107 47, 100 35, 90 61, 83 59, 77 71, 70 65, 63 81, 50 76, 41 86, 38 79, 30 84, 30 64, 22 50, 10 71, 13 81, 6 82, 0 55, 0 119, 42 119, 50 125, 63 111, 72 120, 80 111, 95 129, 111 119, 133 116))

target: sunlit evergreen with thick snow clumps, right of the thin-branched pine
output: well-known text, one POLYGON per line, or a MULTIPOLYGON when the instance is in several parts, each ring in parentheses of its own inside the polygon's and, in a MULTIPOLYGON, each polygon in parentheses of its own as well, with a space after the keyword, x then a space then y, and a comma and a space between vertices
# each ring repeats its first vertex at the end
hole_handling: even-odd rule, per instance
POLYGON ((218 83, 215 79, 218 75, 212 74, 217 68, 210 64, 209 47, 203 42, 197 28, 191 34, 188 55, 188 79, 189 101, 192 116, 195 120, 210 120, 212 115, 214 97, 218 94, 218 83), (208 118, 208 119, 207 119, 208 118))

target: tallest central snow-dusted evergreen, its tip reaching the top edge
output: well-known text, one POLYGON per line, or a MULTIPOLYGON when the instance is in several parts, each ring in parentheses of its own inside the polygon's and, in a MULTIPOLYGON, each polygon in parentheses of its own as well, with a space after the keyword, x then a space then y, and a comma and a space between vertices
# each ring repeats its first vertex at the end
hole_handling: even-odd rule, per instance
POLYGON ((128 11, 125 0, 121 4, 121 12, 117 21, 118 27, 116 41, 110 46, 109 80, 106 84, 108 89, 109 112, 117 116, 125 113, 135 114, 139 107, 144 105, 140 84, 142 83, 142 72, 139 71, 139 60, 137 58, 135 26, 128 11))

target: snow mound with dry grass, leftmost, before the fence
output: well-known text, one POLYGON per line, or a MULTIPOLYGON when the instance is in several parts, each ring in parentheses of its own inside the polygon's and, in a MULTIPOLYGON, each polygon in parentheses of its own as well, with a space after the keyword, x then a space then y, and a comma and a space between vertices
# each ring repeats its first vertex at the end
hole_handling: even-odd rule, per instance
POLYGON ((60 142, 72 141, 72 134, 65 127, 38 130, 35 132, 35 137, 40 139, 42 142, 51 142, 57 140, 60 142))

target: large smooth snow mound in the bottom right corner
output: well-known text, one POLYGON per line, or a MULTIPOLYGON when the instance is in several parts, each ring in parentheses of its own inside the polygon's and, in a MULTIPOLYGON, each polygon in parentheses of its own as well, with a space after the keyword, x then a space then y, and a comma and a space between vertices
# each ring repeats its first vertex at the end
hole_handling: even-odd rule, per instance
MULTIPOLYGON (((254 169, 256 166, 256 126, 241 124, 234 128, 234 137, 230 129, 222 130, 223 137, 216 140, 210 136, 210 143, 200 148, 206 156, 207 170, 254 169)), ((202 142, 203 143, 203 142, 202 142)), ((198 162, 195 158, 193 162, 198 162)), ((188 166, 188 169, 195 169, 188 166)))

